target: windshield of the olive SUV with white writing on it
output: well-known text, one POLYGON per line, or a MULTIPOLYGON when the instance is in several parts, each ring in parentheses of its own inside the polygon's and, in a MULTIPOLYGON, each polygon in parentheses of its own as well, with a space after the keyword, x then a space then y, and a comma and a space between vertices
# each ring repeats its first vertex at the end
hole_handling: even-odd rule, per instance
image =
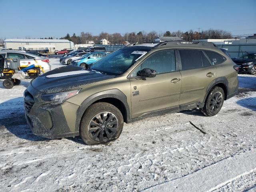
POLYGON ((122 48, 94 63, 90 69, 106 74, 123 74, 148 51, 149 49, 138 47, 122 48))

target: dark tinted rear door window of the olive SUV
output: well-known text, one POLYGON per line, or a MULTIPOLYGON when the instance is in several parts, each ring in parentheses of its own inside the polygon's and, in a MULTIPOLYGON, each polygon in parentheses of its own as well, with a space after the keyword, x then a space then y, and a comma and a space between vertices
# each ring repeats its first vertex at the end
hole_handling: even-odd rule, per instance
POLYGON ((201 68, 202 59, 199 50, 179 50, 182 70, 201 68))

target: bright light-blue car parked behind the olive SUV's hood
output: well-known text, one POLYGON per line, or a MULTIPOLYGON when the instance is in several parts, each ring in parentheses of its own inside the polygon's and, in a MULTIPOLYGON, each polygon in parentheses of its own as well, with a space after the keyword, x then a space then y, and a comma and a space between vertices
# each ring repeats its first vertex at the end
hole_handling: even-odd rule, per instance
POLYGON ((90 52, 83 55, 81 58, 73 60, 71 64, 87 69, 91 64, 94 64, 96 61, 102 59, 107 55, 108 53, 106 52, 90 52))

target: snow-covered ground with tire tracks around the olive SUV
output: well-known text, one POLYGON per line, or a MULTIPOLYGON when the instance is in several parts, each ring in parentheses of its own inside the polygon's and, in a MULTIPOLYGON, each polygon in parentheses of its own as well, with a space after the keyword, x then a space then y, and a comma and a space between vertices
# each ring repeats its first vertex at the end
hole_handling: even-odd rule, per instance
POLYGON ((118 140, 98 146, 33 135, 22 104, 29 80, 10 90, 0 82, 0 189, 255 191, 256 76, 239 81, 239 93, 216 116, 195 109, 148 117, 124 124, 118 140))

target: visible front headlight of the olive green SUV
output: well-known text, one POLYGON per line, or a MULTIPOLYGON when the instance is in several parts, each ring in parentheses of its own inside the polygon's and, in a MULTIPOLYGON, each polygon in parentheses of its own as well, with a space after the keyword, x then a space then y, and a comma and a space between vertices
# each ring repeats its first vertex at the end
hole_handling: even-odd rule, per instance
POLYGON ((72 90, 67 92, 58 92, 58 93, 50 93, 50 94, 42 94, 41 99, 44 101, 51 101, 52 104, 61 104, 69 98, 74 97, 80 92, 81 89, 72 90))

